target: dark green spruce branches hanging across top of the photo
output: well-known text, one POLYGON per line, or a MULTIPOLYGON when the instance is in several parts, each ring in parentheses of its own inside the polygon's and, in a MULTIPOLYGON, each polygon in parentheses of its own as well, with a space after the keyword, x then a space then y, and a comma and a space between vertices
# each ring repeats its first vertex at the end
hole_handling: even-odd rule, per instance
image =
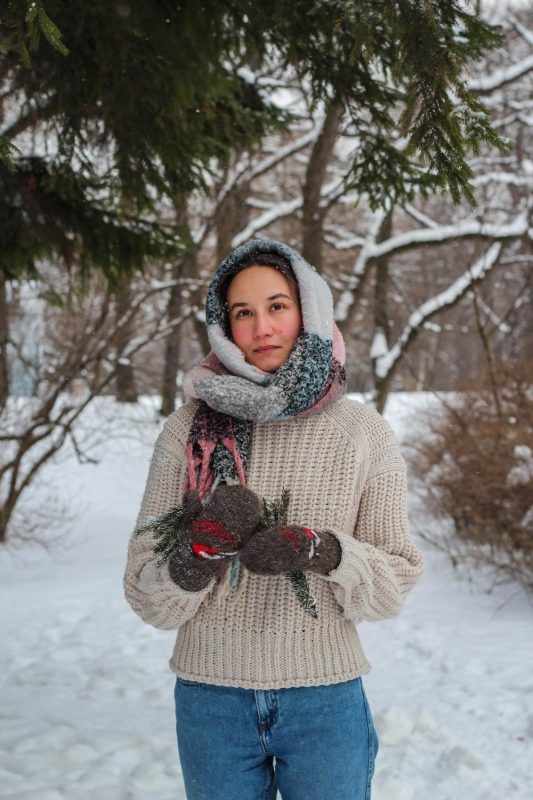
POLYGON ((342 104, 359 137, 346 181, 374 207, 472 200, 467 154, 504 146, 464 83, 499 34, 454 0, 10 0, 0 31, 7 274, 55 255, 113 278, 175 251, 161 201, 285 121, 253 78, 268 65, 342 104), (22 133, 47 152, 17 153, 22 133))

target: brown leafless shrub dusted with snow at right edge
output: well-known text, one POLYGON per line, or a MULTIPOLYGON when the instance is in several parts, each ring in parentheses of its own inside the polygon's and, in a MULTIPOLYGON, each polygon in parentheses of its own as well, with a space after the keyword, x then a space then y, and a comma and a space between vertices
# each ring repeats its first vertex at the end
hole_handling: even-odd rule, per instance
POLYGON ((411 466, 428 510, 451 522, 435 543, 533 591, 531 372, 500 365, 489 388, 443 399, 423 425, 411 466))

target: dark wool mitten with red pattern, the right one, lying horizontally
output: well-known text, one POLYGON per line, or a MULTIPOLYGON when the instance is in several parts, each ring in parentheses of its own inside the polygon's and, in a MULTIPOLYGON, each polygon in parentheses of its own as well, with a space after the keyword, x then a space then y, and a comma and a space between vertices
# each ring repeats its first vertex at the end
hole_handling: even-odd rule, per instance
POLYGON ((299 525, 278 525, 252 536, 239 555, 258 575, 309 570, 326 575, 341 560, 341 546, 332 533, 317 533, 299 525))

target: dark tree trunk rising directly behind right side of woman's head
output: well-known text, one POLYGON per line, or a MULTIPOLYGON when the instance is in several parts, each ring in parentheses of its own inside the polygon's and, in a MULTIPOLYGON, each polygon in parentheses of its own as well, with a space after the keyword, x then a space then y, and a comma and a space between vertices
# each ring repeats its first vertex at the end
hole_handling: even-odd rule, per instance
POLYGON ((343 111, 344 108, 338 100, 334 100, 329 106, 324 126, 309 157, 303 186, 302 255, 319 272, 322 269, 324 224, 324 210, 320 208, 320 198, 343 111))

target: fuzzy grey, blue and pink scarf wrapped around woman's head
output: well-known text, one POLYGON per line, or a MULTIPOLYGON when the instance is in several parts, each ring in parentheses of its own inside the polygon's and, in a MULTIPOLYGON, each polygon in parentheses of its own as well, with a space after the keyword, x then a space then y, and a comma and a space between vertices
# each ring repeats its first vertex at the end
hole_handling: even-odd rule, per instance
POLYGON ((206 323, 212 350, 184 383, 186 395, 201 401, 185 451, 185 490, 196 489, 202 499, 219 482, 246 482, 254 422, 316 414, 346 391, 344 342, 333 320, 330 289, 314 267, 282 242, 253 239, 220 264, 207 292, 206 323), (269 255, 288 265, 302 312, 302 332, 273 373, 249 364, 231 341, 225 302, 231 277, 246 266, 269 265, 269 255))

